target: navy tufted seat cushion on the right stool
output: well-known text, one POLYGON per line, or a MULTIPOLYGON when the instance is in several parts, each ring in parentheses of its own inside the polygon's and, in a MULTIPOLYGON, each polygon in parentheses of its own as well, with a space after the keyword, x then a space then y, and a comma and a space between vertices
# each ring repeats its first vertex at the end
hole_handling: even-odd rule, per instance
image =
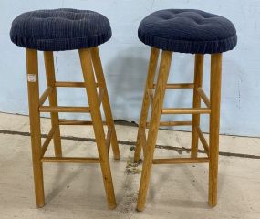
POLYGON ((192 54, 222 53, 237 43, 234 25, 228 19, 192 9, 152 13, 141 21, 138 36, 151 47, 192 54))

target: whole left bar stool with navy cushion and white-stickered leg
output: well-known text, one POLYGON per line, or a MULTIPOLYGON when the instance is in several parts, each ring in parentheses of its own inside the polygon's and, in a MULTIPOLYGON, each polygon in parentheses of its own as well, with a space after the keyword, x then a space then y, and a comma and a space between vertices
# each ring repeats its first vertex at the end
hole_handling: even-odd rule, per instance
POLYGON ((26 47, 27 88, 37 207, 43 207, 43 162, 100 163, 110 209, 116 199, 109 166, 110 143, 115 159, 120 159, 116 130, 109 105, 108 90, 99 57, 100 44, 111 37, 107 17, 97 12, 76 9, 38 10, 17 16, 10 37, 19 47, 26 47), (84 82, 56 81, 53 51, 78 49, 84 82), (37 50, 44 51, 47 89, 39 98, 37 50), (97 82, 96 82, 96 79, 97 82), (85 88, 89 107, 57 105, 57 87, 85 88), (97 90, 98 89, 98 90, 97 90), (49 106, 45 106, 49 99, 49 106), (102 121, 102 104, 106 122, 102 121), (40 113, 50 112, 51 130, 41 144, 40 113), (90 113, 92 121, 59 120, 58 112, 90 113), (108 126, 105 135, 103 123, 108 126), (63 157, 59 125, 93 125, 98 158, 63 157), (55 157, 46 157, 49 142, 54 141, 55 157))

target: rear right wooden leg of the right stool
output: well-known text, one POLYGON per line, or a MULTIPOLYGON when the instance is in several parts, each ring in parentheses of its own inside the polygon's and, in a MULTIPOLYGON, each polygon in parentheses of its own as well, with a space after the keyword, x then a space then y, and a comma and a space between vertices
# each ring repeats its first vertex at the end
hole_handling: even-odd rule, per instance
MULTIPOLYGON (((193 89, 193 108, 201 107, 201 97, 198 94, 197 89, 203 86, 203 54, 195 55, 194 66, 194 89, 193 89)), ((199 136, 197 133, 197 127, 200 126, 200 114, 192 115, 192 158, 196 158, 198 154, 198 141, 199 136)))

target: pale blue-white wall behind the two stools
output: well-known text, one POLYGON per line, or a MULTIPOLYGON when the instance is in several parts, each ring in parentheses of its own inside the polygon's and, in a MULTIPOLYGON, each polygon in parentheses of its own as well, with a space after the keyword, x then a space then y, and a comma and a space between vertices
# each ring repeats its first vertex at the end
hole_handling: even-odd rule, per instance
MULTIPOLYGON (((58 7, 89 9, 109 17, 113 36, 100 47, 100 53, 114 119, 129 121, 139 120, 150 55, 150 47, 140 43, 137 37, 140 20, 163 8, 197 8, 229 18, 237 29, 238 46, 234 51, 224 54, 221 132, 260 136, 260 1, 257 0, 0 0, 0 111, 28 113, 25 50, 13 45, 9 39, 12 20, 26 11, 58 7)), ((77 51, 58 52, 55 57, 57 78, 82 79, 77 51)), ((45 86, 42 59, 40 53, 41 90, 45 86)), ((173 55, 172 81, 192 81, 192 70, 191 55, 173 55)), ((208 90, 208 56, 204 76, 205 90, 208 90)), ((60 104, 86 103, 83 89, 59 89, 58 94, 60 104)), ((189 94, 191 92, 176 91, 173 95, 169 91, 165 105, 189 106, 192 104, 189 94)), ((83 117, 72 114, 64 116, 83 117)), ((205 119, 203 130, 207 129, 208 122, 205 119)))

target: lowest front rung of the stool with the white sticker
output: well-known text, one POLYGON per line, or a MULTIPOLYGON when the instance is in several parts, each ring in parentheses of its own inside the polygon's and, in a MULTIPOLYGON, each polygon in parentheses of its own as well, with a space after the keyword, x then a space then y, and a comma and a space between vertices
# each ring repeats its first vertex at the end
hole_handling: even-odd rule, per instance
POLYGON ((99 158, 83 157, 43 157, 41 162, 74 162, 74 163, 99 163, 99 158))

